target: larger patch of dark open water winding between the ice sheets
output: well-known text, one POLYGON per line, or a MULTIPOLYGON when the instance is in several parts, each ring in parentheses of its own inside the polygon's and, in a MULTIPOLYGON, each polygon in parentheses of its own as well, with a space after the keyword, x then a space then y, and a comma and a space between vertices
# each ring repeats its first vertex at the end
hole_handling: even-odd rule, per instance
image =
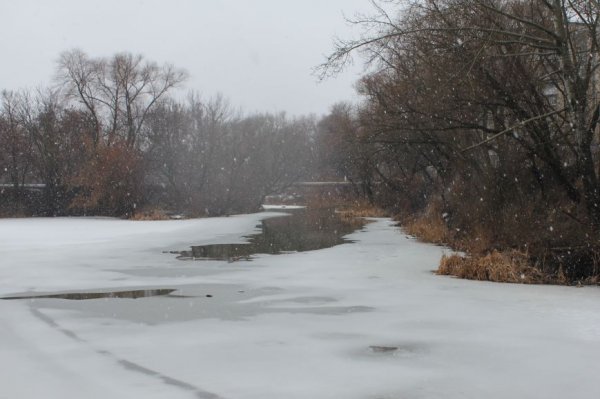
POLYGON ((255 254, 313 251, 351 242, 343 236, 364 226, 363 219, 342 218, 333 209, 285 210, 287 216, 265 219, 260 233, 248 236, 247 244, 192 246, 179 252, 184 260, 250 260, 255 254))

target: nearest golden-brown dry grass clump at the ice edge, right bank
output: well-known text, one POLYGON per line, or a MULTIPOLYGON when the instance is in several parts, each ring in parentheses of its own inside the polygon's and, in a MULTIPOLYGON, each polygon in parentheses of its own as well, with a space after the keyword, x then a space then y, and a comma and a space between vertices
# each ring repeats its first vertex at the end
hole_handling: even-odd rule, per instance
POLYGON ((493 251, 484 256, 444 255, 437 274, 502 283, 550 282, 544 273, 531 266, 527 254, 515 250, 493 251))

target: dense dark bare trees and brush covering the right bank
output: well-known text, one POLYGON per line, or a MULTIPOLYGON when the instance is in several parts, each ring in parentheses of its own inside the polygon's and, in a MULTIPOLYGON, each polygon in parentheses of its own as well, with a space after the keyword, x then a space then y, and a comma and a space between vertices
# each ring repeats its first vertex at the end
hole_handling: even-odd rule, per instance
POLYGON ((600 273, 600 5, 374 1, 320 67, 367 59, 359 106, 323 122, 364 196, 472 253, 516 249, 551 273, 600 273), (415 216, 416 215, 416 216, 415 216))

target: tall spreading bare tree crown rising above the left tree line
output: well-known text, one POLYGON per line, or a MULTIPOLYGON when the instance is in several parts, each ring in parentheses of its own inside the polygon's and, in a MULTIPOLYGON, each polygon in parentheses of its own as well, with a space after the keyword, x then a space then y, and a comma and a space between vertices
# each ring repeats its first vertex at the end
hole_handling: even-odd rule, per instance
POLYGON ((102 135, 109 146, 124 140, 131 148, 142 145, 139 136, 150 110, 186 78, 183 70, 131 53, 90 58, 71 50, 61 54, 57 70, 67 96, 93 120, 94 142, 102 135))

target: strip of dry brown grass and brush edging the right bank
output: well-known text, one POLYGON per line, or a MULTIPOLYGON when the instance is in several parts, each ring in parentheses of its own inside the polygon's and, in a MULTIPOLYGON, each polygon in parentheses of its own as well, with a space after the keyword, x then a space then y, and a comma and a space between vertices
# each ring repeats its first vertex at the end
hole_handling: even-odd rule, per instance
MULTIPOLYGON (((566 248, 561 253, 553 253, 540 247, 518 250, 509 243, 497 247, 498 238, 495 238, 489 226, 478 224, 470 226, 468 230, 451 228, 440 207, 433 204, 435 202, 417 216, 398 219, 406 233, 424 242, 446 245, 465 254, 444 255, 436 271, 438 275, 520 284, 600 283, 600 256, 593 249, 584 253, 581 252, 582 248, 566 248), (588 252, 593 259, 588 259, 588 252), (594 265, 593 270, 585 272, 585 276, 592 277, 575 274, 581 269, 580 263, 594 265)), ((514 235, 518 239, 521 233, 515 230, 514 235)), ((506 236, 506 233, 501 236, 506 236)))

